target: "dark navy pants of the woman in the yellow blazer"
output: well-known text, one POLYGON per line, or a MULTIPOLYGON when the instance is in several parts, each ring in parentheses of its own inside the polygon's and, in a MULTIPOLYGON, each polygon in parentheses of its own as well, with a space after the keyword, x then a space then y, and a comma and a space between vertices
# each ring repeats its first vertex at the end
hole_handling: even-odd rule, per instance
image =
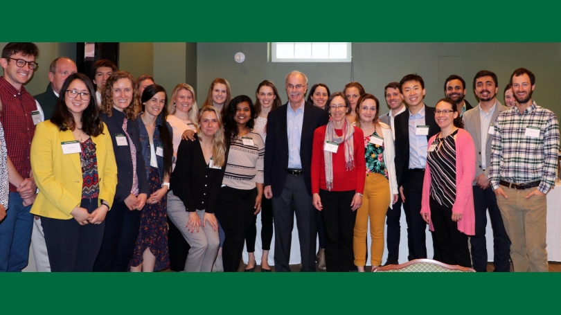
MULTIPOLYGON (((92 213, 98 208, 98 199, 82 199, 80 207, 92 213)), ((81 226, 75 219, 42 217, 41 224, 51 271, 93 271, 103 241, 105 221, 81 226)))

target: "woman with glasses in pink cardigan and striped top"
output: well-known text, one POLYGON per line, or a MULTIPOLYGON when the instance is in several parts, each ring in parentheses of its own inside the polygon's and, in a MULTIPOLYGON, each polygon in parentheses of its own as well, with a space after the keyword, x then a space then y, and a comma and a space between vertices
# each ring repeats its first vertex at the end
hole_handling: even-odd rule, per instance
POLYGON ((461 129, 456 102, 443 98, 434 113, 440 132, 429 140, 420 214, 434 231, 442 262, 471 267, 467 235, 475 234, 475 145, 461 129))

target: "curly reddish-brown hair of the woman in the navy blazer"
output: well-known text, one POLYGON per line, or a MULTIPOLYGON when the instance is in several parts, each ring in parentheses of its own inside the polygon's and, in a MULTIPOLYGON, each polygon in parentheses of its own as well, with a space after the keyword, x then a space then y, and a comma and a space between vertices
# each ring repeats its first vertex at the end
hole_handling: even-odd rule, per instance
POLYGON ((130 100, 129 106, 123 110, 123 113, 125 113, 125 117, 128 120, 135 120, 136 116, 138 116, 141 111, 141 102, 139 90, 136 89, 136 84, 134 84, 134 78, 127 71, 115 71, 112 75, 109 75, 109 78, 107 78, 105 82, 105 87, 103 87, 103 91, 101 91, 100 109, 109 117, 113 115, 113 84, 121 79, 130 80, 130 84, 132 85, 132 100, 130 100))

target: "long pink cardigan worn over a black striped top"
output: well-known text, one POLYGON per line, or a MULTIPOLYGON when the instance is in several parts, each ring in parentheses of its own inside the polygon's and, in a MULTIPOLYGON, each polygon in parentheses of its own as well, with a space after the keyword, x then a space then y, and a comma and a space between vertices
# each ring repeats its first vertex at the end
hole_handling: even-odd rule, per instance
MULTIPOLYGON (((429 145, 434 142, 438 134, 432 136, 429 145)), ((473 204, 472 182, 475 177, 475 145, 472 136, 464 129, 458 129, 456 135, 456 202, 452 212, 461 213, 462 219, 458 221, 458 231, 465 235, 475 235, 475 209, 473 204)), ((434 226, 431 222, 431 208, 429 207, 431 190, 431 169, 429 163, 425 170, 425 180, 422 183, 421 212, 429 215, 431 231, 434 226)))

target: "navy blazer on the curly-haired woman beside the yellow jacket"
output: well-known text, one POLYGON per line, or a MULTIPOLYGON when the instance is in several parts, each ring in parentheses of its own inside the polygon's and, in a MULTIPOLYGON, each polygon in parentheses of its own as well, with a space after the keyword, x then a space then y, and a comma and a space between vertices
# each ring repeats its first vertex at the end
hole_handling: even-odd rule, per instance
MULTIPOLYGON (((112 110, 112 116, 109 117, 105 113, 100 113, 99 118, 107 125, 111 141, 113 141, 113 150, 115 152, 115 160, 117 161, 117 190, 115 192, 116 201, 125 201, 132 190, 132 156, 130 154, 129 145, 117 145, 116 134, 125 134, 123 132, 123 120, 125 114, 116 109, 112 110)), ((127 133, 136 147, 136 175, 139 177, 139 194, 150 196, 150 187, 144 168, 144 158, 142 156, 142 144, 140 142, 139 125, 134 120, 127 121, 127 133)))

